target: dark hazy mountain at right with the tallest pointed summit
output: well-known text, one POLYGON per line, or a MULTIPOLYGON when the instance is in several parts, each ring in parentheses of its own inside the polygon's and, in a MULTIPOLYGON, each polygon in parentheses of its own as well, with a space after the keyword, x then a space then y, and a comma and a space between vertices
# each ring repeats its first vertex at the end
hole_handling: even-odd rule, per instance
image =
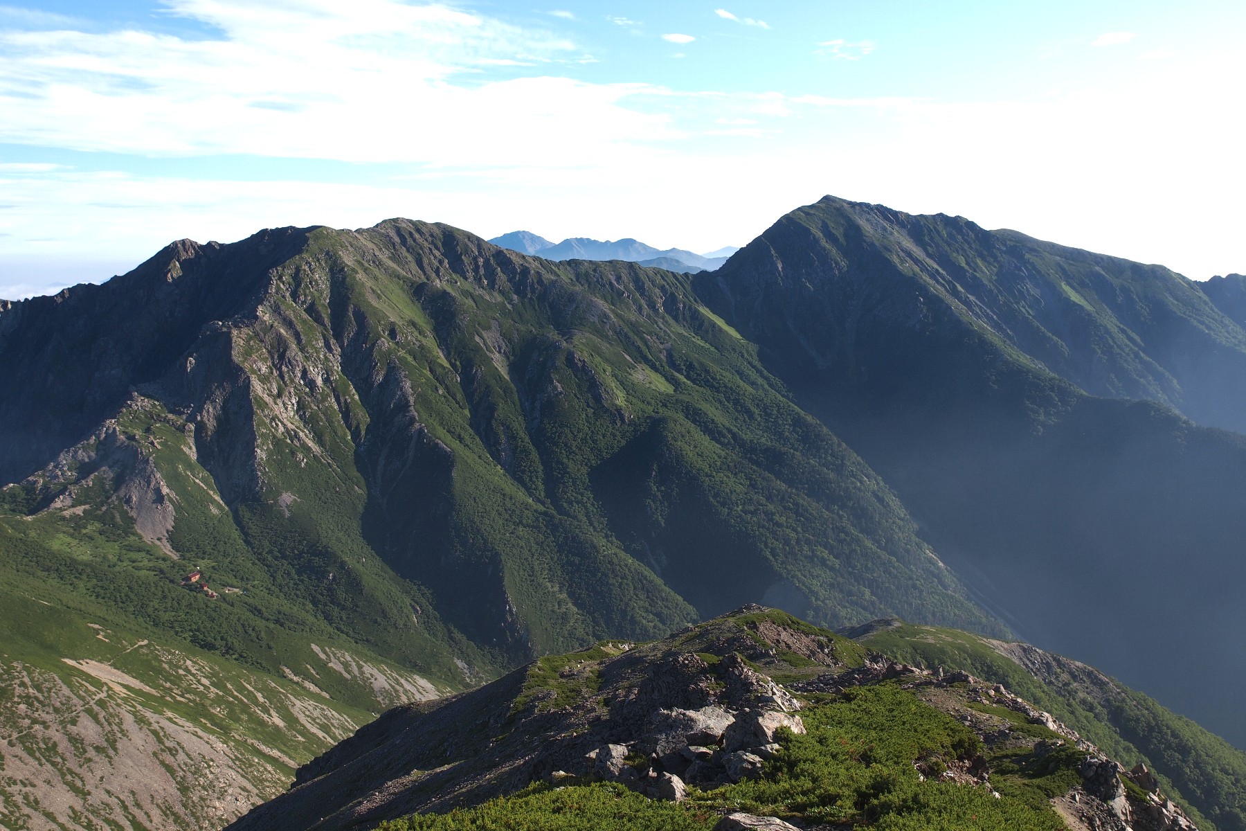
POLYGON ((1196 396, 1202 387, 1177 371, 1184 340, 1182 360, 1217 368, 1224 400, 1236 396, 1246 382, 1237 330, 1201 292, 1163 269, 832 198, 697 280, 1017 632, 1246 743, 1231 704, 1246 683, 1235 634, 1246 625, 1236 601, 1246 439, 1078 386, 1146 394, 1166 363, 1182 406, 1211 407, 1214 396, 1196 396), (1125 305, 1109 315, 1095 298, 1111 284, 1125 305), (1158 326, 1140 325, 1145 336, 1125 314, 1144 308, 1158 326), (1040 363, 1018 333, 1058 331, 1060 314, 1060 343, 1101 349, 1040 363), (1125 386, 1096 385, 1095 373, 1125 386))

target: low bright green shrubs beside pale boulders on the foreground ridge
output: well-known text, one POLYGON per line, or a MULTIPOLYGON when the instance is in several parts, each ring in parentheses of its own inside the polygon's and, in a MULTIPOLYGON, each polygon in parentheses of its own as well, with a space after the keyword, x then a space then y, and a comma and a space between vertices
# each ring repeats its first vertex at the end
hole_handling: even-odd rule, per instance
MULTIPOLYGON (((760 779, 700 791, 683 804, 648 800, 618 785, 536 785, 515 796, 446 815, 386 822, 384 831, 581 831, 710 829, 719 815, 746 811, 886 831, 974 829, 1064 831, 1047 800, 1080 781, 1075 749, 1040 761, 1028 751, 999 756, 992 786, 938 781, 927 771, 964 765, 978 736, 893 684, 849 690, 801 713, 807 734, 781 734, 782 750, 760 779), (992 787, 999 794, 992 794, 992 787)), ((1050 735, 1050 733, 1048 731, 1050 735)))

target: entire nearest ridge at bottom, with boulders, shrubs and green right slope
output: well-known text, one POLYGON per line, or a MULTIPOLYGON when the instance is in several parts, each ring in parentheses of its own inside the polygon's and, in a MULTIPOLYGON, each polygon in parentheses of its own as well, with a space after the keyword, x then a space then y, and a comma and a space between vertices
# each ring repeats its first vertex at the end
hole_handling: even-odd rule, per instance
POLYGON ((1246 756, 1090 667, 895 619, 849 634, 750 605, 548 655, 390 710, 231 829, 1244 827, 1246 756))

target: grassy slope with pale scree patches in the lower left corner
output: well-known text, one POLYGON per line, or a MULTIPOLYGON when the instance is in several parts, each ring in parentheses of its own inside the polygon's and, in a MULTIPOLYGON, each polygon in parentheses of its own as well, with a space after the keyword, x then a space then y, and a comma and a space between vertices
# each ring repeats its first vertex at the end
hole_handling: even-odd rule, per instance
MULTIPOLYGON (((9 546, 7 531, 5 523, 0 825, 219 826, 371 718, 118 609, 87 588, 107 584, 88 569, 77 572, 82 582, 62 582, 69 571, 49 556, 36 562, 55 577, 31 573, 29 549, 9 546)), ((353 688, 348 698, 366 700, 358 683, 308 657, 326 688, 353 688)))

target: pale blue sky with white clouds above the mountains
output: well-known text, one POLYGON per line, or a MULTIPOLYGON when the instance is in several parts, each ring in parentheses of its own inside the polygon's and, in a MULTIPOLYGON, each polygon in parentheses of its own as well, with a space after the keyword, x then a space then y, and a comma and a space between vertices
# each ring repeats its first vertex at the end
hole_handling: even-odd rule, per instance
POLYGON ((0 5, 0 298, 390 217, 708 252, 827 193, 1246 273, 1241 0, 721 1, 0 5))

